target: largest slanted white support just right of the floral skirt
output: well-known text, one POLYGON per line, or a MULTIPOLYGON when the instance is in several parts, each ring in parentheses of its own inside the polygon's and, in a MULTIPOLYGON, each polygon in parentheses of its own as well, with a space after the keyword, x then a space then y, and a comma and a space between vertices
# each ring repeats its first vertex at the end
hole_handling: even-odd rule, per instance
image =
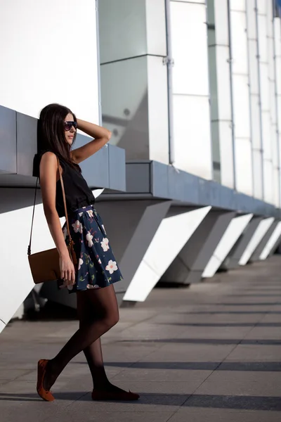
POLYGON ((163 219, 126 290, 124 300, 144 301, 148 297, 209 210, 211 207, 203 207, 163 219), (170 238, 169 233, 178 235, 170 238))

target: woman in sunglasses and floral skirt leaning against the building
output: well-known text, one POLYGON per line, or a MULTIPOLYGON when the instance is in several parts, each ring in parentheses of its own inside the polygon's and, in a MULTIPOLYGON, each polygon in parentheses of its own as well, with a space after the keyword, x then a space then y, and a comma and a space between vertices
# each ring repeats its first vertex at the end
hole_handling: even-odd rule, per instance
POLYGON ((39 153, 34 158, 34 174, 39 175, 44 213, 60 255, 60 288, 77 295, 79 329, 53 359, 38 362, 37 392, 48 402, 50 391, 70 360, 83 350, 93 378, 92 399, 136 400, 139 395, 126 392, 108 381, 103 366, 100 336, 119 320, 113 283, 122 280, 105 228, 93 207, 95 198, 81 175, 79 163, 102 148, 111 132, 96 124, 79 120, 68 108, 50 104, 41 110, 38 124, 39 153), (72 149, 77 129, 94 139, 72 149), (69 234, 59 217, 65 215, 60 184, 63 174, 70 234, 76 260, 67 249, 69 234), (74 268, 75 261, 77 262, 74 268))

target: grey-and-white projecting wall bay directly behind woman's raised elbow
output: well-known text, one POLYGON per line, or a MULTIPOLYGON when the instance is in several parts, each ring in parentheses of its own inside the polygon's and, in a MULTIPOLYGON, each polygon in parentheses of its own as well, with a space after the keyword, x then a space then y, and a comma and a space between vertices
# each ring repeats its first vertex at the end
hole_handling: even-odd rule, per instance
POLYGON ((127 160, 169 164, 165 0, 99 2, 103 122, 127 160))

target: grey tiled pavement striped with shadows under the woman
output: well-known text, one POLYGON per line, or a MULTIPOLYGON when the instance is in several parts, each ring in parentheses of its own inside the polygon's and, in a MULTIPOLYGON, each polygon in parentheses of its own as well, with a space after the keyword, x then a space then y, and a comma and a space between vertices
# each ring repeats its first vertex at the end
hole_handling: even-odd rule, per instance
POLYGON ((281 257, 190 288, 155 289, 103 337, 107 375, 138 402, 92 402, 84 356, 35 391, 36 364, 77 321, 14 321, 0 335, 0 421, 275 422, 281 418, 281 257))

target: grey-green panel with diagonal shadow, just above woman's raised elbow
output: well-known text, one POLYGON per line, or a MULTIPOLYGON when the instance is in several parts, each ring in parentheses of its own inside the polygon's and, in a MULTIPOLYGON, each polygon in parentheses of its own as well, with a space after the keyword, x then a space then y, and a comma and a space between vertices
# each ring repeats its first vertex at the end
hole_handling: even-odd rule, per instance
POLYGON ((100 84, 103 123, 112 132, 110 143, 125 148, 128 160, 148 159, 147 58, 100 66, 100 84))

